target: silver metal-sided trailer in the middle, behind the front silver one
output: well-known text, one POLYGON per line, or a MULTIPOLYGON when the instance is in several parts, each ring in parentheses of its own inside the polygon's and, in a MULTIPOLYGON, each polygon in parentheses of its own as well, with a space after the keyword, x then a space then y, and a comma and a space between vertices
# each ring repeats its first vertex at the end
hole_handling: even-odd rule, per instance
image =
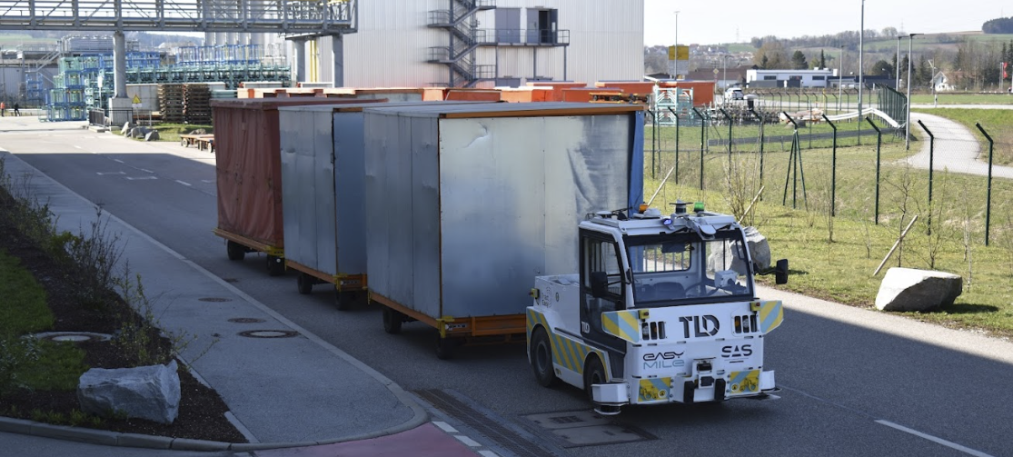
POLYGON ((279 108, 285 263, 299 293, 331 284, 345 309, 365 291, 363 109, 459 101, 342 103, 279 108))

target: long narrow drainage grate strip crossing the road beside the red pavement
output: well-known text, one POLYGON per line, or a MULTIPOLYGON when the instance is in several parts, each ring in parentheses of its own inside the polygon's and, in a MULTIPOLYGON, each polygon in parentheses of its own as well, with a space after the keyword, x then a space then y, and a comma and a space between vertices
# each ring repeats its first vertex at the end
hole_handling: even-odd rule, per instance
POLYGON ((537 439, 537 437, 533 435, 529 434, 530 438, 526 438, 518 432, 503 427, 501 424, 505 424, 505 420, 493 416, 489 413, 483 413, 468 403, 441 389, 413 390, 412 392, 415 395, 418 395, 421 399, 427 401, 437 409, 440 409, 448 415, 463 422, 468 427, 474 429, 475 432, 482 434, 489 440, 494 441, 503 449, 516 455, 532 457, 552 457, 561 455, 559 453, 550 452, 532 442, 532 439, 537 439))

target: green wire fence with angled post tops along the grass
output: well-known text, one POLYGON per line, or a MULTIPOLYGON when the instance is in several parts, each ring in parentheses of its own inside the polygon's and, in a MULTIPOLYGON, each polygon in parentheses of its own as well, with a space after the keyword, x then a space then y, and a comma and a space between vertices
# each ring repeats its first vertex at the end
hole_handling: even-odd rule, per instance
POLYGON ((675 126, 647 126, 648 203, 714 192, 739 218, 762 200, 890 227, 918 215, 937 236, 1013 244, 1013 144, 990 135, 1001 126, 972 131, 914 113, 909 150, 905 129, 876 117, 757 107, 698 107, 675 126))

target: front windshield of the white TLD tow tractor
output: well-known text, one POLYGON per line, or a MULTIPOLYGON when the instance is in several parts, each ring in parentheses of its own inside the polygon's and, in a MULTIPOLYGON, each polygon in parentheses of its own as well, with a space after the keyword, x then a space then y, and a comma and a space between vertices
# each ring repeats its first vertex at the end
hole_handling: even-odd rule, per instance
POLYGON ((741 232, 627 237, 637 307, 752 300, 753 281, 741 232))

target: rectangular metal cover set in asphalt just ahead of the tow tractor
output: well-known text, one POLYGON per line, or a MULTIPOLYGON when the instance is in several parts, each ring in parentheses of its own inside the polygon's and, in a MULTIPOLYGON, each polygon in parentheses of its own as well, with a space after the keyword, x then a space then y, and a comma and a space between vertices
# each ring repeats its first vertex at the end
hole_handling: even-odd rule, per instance
POLYGON ((617 423, 593 411, 560 411, 528 414, 524 418, 538 426, 547 438, 564 448, 656 440, 635 427, 617 423))

